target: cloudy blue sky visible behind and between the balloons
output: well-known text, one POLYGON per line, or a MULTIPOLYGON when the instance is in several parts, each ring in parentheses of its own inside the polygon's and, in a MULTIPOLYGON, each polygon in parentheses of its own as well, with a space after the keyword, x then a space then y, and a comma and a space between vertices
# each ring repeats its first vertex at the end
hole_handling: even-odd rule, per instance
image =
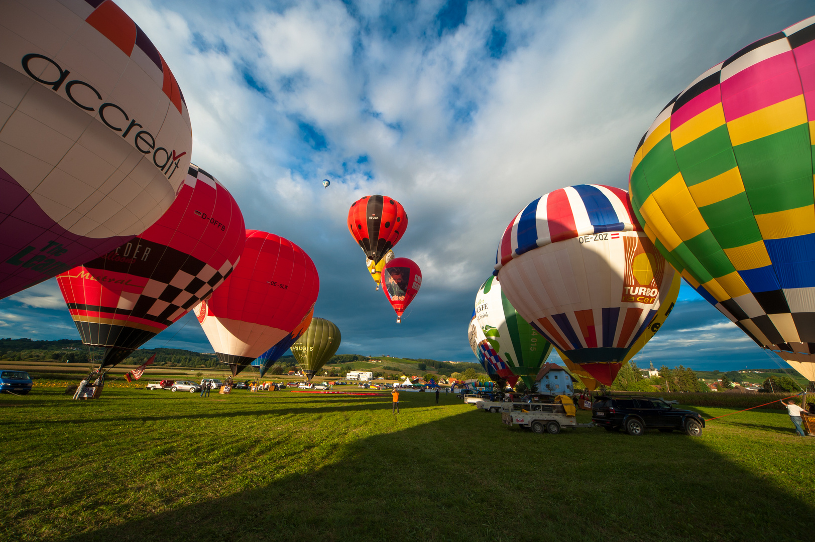
MULTIPOLYGON (((315 315, 341 328, 339 352, 460 361, 474 359, 475 293, 514 214, 559 187, 627 187, 664 104, 815 14, 813 2, 745 0, 118 3, 178 78, 193 161, 229 187, 247 227, 315 261, 315 315), (345 225, 373 193, 405 206, 395 252, 424 278, 398 325, 345 225)), ((637 362, 777 366, 685 284, 680 300, 637 362)), ((54 280, 0 301, 0 335, 78 338, 54 280)), ((189 316, 147 346, 212 351, 189 316)))

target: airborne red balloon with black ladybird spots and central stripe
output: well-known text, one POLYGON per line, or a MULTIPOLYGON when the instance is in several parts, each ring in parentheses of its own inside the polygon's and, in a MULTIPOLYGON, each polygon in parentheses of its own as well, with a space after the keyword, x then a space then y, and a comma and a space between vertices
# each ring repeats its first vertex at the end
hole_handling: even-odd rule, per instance
POLYGON ((407 214, 388 196, 365 196, 348 209, 348 229, 362 247, 365 257, 379 262, 402 239, 407 214))

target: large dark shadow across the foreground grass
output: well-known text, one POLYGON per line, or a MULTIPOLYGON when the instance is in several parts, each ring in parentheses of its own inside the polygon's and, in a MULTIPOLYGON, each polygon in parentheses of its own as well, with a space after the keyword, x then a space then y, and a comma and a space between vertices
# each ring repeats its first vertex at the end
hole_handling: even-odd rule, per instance
MULTIPOLYGON (((412 403, 394 424, 434 406, 412 403)), ((60 540, 811 540, 813 513, 704 437, 538 435, 469 411, 347 443, 300 474, 134 510, 141 518, 60 540)))

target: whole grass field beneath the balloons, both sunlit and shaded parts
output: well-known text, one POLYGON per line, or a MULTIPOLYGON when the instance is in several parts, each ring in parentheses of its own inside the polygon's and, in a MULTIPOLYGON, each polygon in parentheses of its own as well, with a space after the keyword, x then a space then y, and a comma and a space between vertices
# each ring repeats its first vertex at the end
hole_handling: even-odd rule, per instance
POLYGON ((813 540, 815 438, 781 412, 701 438, 538 435, 402 399, 394 416, 385 394, 2 395, 0 537, 813 540))

